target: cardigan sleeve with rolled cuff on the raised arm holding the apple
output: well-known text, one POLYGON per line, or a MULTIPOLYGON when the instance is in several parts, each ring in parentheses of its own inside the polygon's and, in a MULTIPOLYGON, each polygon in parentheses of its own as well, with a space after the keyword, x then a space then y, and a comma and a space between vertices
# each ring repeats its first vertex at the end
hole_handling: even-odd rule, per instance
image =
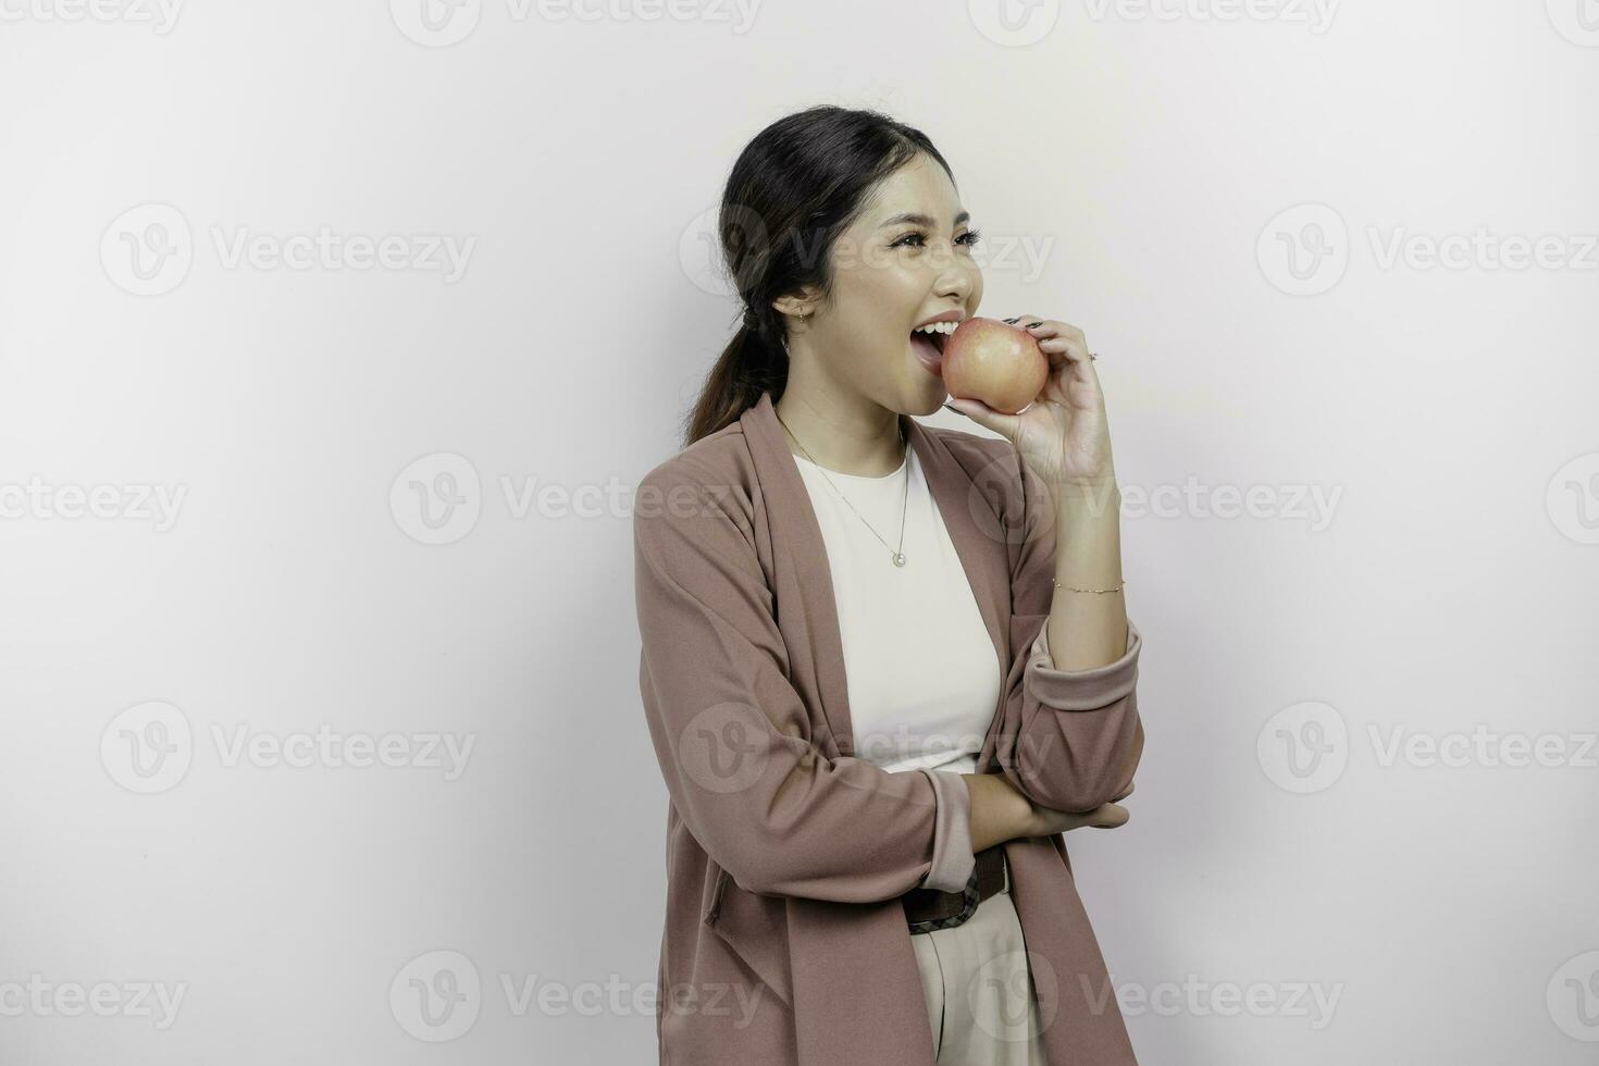
POLYGON ((1011 650, 999 762, 1028 799, 1086 812, 1126 798, 1143 756, 1138 654, 1143 638, 1127 622, 1119 658, 1089 670, 1057 670, 1049 654, 1055 575, 1055 500, 1014 447, 1007 503, 1020 505, 1011 545, 1011 650))

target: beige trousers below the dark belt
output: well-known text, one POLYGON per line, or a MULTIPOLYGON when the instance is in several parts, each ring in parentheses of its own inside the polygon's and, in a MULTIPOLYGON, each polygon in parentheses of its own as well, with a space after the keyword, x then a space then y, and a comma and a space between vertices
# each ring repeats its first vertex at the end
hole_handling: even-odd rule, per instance
POLYGON ((1046 1066, 1022 922, 1004 889, 963 925, 915 933, 939 1066, 1046 1066))

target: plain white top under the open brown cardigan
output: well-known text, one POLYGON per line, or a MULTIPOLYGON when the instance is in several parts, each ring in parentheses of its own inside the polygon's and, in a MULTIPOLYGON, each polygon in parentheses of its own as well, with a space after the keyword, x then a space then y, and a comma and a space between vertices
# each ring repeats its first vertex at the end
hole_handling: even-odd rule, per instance
POLYGON ((907 452, 886 478, 823 475, 795 455, 833 572, 854 754, 884 770, 974 774, 999 702, 999 660, 916 449, 907 452))

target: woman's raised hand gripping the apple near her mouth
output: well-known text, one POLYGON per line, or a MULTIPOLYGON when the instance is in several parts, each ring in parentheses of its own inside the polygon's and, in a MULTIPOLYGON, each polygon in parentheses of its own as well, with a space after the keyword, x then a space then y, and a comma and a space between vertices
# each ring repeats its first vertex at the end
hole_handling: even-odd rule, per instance
POLYGON ((1049 360, 1044 388, 1020 414, 1003 414, 980 400, 953 396, 950 406, 1015 444, 1027 465, 1052 489, 1089 492, 1115 484, 1105 393, 1100 392, 1083 331, 1071 323, 1036 315, 1006 321, 1036 323, 1027 332, 1049 360))

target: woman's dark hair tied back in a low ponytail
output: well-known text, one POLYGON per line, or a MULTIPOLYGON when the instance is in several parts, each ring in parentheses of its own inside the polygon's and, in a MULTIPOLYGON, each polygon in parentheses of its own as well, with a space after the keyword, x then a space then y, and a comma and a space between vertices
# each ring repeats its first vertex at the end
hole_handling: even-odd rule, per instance
POLYGON ((875 110, 822 104, 755 134, 732 165, 716 230, 744 321, 705 376, 684 447, 737 422, 763 392, 788 384, 787 326, 772 307, 803 289, 831 296, 833 243, 867 206, 873 187, 923 152, 950 174, 921 129, 875 110))

